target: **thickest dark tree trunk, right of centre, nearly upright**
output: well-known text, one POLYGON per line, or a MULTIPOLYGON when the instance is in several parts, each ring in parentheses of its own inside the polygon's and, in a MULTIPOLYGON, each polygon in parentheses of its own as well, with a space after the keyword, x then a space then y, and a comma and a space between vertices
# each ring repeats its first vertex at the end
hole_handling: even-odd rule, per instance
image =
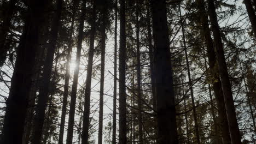
POLYGON ((151 1, 153 15, 154 66, 158 143, 174 144, 177 140, 176 110, 173 91, 171 52, 168 39, 165 0, 151 1))

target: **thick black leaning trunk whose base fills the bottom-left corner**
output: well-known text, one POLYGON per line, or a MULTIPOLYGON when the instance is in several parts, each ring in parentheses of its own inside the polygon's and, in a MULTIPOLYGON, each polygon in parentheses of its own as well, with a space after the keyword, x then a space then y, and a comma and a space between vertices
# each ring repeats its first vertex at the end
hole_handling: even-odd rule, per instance
POLYGON ((48 1, 28 1, 28 16, 18 47, 13 77, 11 78, 1 144, 22 143, 28 104, 27 98, 32 85, 39 32, 46 22, 44 9, 48 5, 48 1))

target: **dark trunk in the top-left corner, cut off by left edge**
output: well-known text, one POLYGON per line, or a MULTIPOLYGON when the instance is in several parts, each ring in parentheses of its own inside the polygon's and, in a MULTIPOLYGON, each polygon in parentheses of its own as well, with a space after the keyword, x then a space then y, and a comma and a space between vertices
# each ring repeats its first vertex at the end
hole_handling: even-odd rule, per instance
POLYGON ((11 17, 13 17, 15 4, 18 0, 10 0, 9 2, 3 2, 3 23, 0 26, 0 67, 3 65, 8 48, 5 46, 5 41, 7 40, 8 31, 11 25, 11 17))

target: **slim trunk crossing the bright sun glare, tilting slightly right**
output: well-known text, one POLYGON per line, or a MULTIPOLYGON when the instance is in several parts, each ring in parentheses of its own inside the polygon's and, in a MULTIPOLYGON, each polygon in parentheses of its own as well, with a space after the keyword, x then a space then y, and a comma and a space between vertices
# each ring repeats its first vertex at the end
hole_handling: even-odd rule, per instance
POLYGON ((75 59, 75 64, 77 65, 74 69, 73 84, 71 89, 71 101, 70 101, 70 107, 69 107, 68 129, 67 129, 67 144, 72 144, 72 141, 73 141, 75 103, 77 100, 79 65, 80 65, 80 57, 81 57, 81 50, 82 50, 82 42, 84 37, 83 33, 84 33, 85 11, 86 11, 86 1, 83 0, 82 13, 80 14, 79 27, 78 27, 77 57, 75 59))

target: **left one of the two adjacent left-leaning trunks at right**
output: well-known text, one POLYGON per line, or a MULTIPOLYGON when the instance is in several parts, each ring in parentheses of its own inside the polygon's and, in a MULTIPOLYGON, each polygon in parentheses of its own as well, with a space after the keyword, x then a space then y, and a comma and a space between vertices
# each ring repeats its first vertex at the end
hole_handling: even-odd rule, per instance
POLYGON ((206 41, 206 48, 207 48, 207 57, 208 63, 210 66, 210 77, 214 77, 212 81, 214 96, 216 97, 217 108, 218 108, 218 115, 219 115, 219 128, 220 128, 220 135, 222 136, 223 144, 231 143, 229 128, 228 128, 228 119, 226 118, 226 108, 224 103, 223 91, 221 87, 221 83, 219 80, 219 72, 216 70, 215 65, 216 63, 216 55, 214 52, 213 40, 211 38, 211 32, 208 24, 208 17, 206 15, 205 10, 205 3, 202 0, 197 0, 197 9, 199 13, 202 14, 200 17, 201 22, 201 34, 202 37, 205 38, 206 41), (217 80, 217 81, 215 81, 217 80))

